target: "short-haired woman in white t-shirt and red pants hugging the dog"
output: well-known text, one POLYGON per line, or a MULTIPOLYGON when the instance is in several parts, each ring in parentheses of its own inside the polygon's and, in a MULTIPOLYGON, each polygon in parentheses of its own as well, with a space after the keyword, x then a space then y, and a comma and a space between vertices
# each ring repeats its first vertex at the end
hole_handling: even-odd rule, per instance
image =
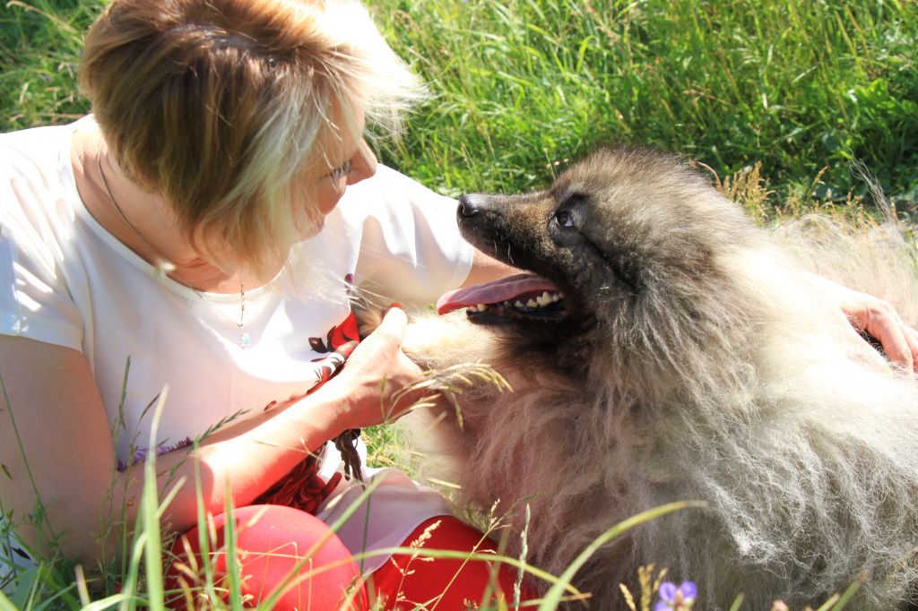
MULTIPOLYGON (((399 350, 398 308, 353 349, 350 286, 430 303, 504 269, 459 239, 452 202, 377 168, 364 122, 397 130, 420 88, 360 6, 115 0, 88 34, 81 79, 93 117, 0 139, 3 510, 17 521, 39 494, 44 526, 18 535, 38 551, 57 538, 91 565, 111 557, 117 529, 106 524, 134 524, 142 483, 127 467, 138 448, 162 452, 161 484, 170 472, 188 482, 163 516, 177 532, 196 526, 197 464, 218 523, 227 501, 241 507, 244 588, 259 598, 362 490, 336 475, 327 442, 397 416, 410 397, 393 396, 420 377, 399 350), (146 408, 166 385, 151 443, 146 408), (176 447, 186 448, 166 451, 176 447), (304 462, 310 452, 319 461, 304 462), (247 506, 277 500, 291 470, 315 491, 298 501, 319 519, 247 506), (277 532, 298 551, 263 561, 277 532)), ((890 352, 918 353, 885 305, 844 298, 890 352)), ((478 543, 404 475, 367 479, 381 482, 372 502, 327 546, 325 561, 343 569, 303 581, 282 605, 334 608, 358 573, 386 608, 443 592, 439 608, 480 600, 493 581, 482 563, 456 580, 455 563, 350 561, 419 538, 432 549, 478 543)), ((193 573, 175 570, 174 583, 193 587, 193 573)), ((505 592, 512 581, 500 573, 505 592)), ((358 587, 353 604, 363 596, 358 587)))

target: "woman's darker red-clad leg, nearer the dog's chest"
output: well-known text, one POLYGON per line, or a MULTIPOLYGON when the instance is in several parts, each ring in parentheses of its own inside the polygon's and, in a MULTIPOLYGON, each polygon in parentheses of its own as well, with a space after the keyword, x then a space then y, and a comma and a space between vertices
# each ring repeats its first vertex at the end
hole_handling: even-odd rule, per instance
MULTIPOLYGON (((371 599, 385 600, 386 611, 403 611, 425 605, 426 609, 457 611, 466 602, 482 603, 489 590, 491 598, 503 597, 512 604, 517 571, 507 564, 488 561, 433 559, 424 550, 457 550, 477 553, 497 552, 497 545, 475 528, 453 516, 433 517, 415 528, 403 547, 419 547, 417 556, 398 555, 373 573, 367 582, 371 599)), ((521 600, 535 596, 522 588, 521 600)))

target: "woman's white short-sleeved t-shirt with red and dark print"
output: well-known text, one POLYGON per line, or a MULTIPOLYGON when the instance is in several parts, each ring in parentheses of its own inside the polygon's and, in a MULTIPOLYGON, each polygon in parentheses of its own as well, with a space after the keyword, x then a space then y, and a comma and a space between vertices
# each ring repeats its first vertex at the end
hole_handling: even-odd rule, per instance
MULTIPOLYGON (((292 261, 310 266, 315 292, 308 285, 301 297, 270 285, 245 292, 251 344, 243 349, 240 294, 200 294, 162 276, 86 210, 70 147, 73 131, 95 128, 92 120, 0 135, 0 333, 83 352, 113 425, 130 360, 119 462, 132 460, 132 443, 150 445, 146 408, 165 385, 161 449, 308 391, 330 329, 350 313, 345 278, 385 287, 400 303, 428 304, 468 274, 473 251, 459 236, 453 200, 380 166, 349 186, 321 232, 297 247, 292 261)), ((320 474, 328 477, 339 462, 327 446, 320 474)), ((358 510, 339 531, 353 552, 396 546, 420 521, 445 512, 438 494, 400 472, 373 477, 385 482, 370 519, 358 510)), ((333 522, 358 494, 359 486, 340 485, 319 517, 333 522)), ((364 570, 384 560, 366 561, 364 570)))

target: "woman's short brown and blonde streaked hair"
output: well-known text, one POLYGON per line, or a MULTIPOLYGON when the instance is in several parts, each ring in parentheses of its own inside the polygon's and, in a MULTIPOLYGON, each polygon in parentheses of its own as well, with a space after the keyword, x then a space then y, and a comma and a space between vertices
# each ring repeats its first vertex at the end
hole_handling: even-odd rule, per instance
POLYGON ((122 169, 197 248, 257 272, 319 224, 297 189, 334 162, 320 143, 361 138, 362 115, 397 133, 423 95, 346 0, 114 0, 80 77, 122 169))

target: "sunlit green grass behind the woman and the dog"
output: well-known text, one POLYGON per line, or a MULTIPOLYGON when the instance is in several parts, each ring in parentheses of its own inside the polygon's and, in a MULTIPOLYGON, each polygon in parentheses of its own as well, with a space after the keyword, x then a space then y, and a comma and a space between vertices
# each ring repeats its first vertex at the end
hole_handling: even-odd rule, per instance
MULTIPOLYGON (((3 2, 0 130, 84 114, 82 33, 105 3, 3 2)), ((752 190, 770 206, 864 192, 849 170, 860 160, 901 211, 918 214, 914 0, 369 4, 433 94, 404 139, 378 142, 380 157, 442 193, 543 186, 596 144, 629 142, 684 152, 721 176, 760 164, 752 190)), ((374 439, 375 461, 390 460, 397 439, 374 439)), ((155 495, 146 503, 155 514, 155 495)), ((119 577, 138 588, 132 567, 119 577)), ((68 571, 34 576, 60 589, 28 606, 87 605, 68 571)), ((118 581, 98 595, 145 606, 115 594, 118 581)))

